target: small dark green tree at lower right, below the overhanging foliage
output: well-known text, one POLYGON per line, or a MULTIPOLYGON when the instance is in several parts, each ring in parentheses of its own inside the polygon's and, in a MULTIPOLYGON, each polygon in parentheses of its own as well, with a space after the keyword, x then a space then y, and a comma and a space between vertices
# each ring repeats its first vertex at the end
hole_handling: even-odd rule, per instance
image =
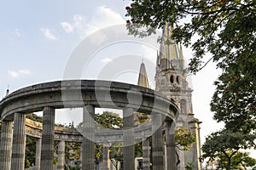
POLYGON ((249 148, 251 144, 247 141, 250 141, 251 138, 251 135, 234 133, 226 129, 211 133, 201 147, 204 152, 201 159, 209 158, 209 161, 214 161, 217 158, 221 158, 220 162, 222 162, 225 158, 226 163, 224 166, 227 170, 230 170, 231 158, 238 153, 238 150, 249 148))

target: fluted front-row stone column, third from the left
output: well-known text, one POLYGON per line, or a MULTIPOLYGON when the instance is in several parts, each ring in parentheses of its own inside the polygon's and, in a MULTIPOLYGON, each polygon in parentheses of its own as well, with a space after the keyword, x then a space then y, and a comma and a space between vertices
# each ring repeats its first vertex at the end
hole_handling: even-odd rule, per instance
POLYGON ((44 107, 41 149, 41 170, 53 170, 55 139, 55 109, 44 107))

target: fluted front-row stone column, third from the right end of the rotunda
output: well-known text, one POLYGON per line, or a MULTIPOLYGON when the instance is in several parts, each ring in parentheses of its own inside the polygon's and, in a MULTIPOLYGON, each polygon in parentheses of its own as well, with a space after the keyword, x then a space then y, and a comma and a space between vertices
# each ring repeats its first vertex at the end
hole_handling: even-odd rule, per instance
POLYGON ((133 110, 131 108, 125 108, 123 110, 123 116, 124 170, 131 170, 135 169, 133 110))

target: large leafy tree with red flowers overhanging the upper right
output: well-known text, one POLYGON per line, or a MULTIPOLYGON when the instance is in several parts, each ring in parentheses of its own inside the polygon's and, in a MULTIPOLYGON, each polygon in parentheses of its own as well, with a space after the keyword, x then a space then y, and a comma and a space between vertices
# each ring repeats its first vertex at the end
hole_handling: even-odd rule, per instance
POLYGON ((212 97, 214 118, 252 133, 256 124, 255 9, 256 0, 133 0, 126 7, 126 16, 131 17, 126 22, 130 34, 138 37, 149 36, 168 22, 172 39, 191 45, 194 51, 188 69, 192 73, 210 60, 215 62, 223 74, 212 97), (207 58, 207 53, 212 57, 207 58))

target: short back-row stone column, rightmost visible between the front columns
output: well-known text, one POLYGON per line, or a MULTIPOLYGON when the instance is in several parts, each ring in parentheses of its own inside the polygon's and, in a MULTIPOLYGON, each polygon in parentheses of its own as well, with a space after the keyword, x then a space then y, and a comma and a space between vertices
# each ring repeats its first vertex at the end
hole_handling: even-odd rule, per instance
POLYGON ((143 170, 150 170, 149 139, 143 139, 143 170))

